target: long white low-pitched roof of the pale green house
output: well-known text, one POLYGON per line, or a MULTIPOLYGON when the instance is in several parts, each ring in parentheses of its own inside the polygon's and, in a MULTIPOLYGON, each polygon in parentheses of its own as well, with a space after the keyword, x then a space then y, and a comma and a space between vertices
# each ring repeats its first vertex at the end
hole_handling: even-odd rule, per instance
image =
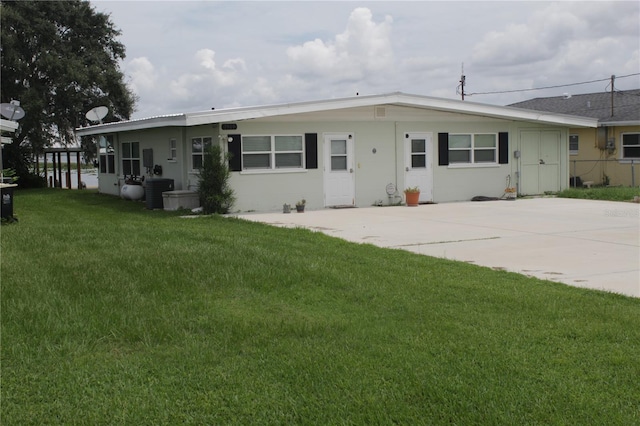
POLYGON ((200 112, 162 115, 137 120, 98 124, 76 129, 78 136, 105 134, 113 132, 151 129, 167 126, 198 126, 203 124, 225 123, 265 117, 277 117, 291 114, 305 114, 337 109, 357 108, 377 105, 399 105, 423 108, 459 114, 501 118, 507 120, 529 121, 545 124, 566 125, 571 127, 597 127, 597 120, 570 115, 529 111, 521 108, 479 104, 473 102, 409 95, 401 92, 384 95, 354 96, 349 98, 327 99, 320 101, 296 102, 287 104, 226 108, 200 112))

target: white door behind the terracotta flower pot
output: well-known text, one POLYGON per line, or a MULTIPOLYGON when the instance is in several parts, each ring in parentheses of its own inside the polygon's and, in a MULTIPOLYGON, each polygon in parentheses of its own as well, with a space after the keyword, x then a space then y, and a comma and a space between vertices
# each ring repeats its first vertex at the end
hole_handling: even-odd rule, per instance
MULTIPOLYGON (((405 133, 405 187, 420 188, 421 202, 433 201, 433 134, 405 133)), ((404 190, 404 188, 402 188, 404 190)))

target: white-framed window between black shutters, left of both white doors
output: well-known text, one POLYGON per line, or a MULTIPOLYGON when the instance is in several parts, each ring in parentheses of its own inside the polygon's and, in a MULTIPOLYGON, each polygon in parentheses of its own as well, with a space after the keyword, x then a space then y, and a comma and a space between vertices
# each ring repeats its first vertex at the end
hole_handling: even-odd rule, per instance
POLYGON ((302 135, 243 136, 243 170, 300 169, 304 167, 302 135))

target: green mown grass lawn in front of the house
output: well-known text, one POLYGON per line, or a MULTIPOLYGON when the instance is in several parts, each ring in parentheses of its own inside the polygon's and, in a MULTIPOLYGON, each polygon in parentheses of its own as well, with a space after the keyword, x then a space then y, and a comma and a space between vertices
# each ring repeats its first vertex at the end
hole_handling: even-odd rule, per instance
POLYGON ((1 415, 640 424, 640 300, 90 191, 1 228, 1 415))

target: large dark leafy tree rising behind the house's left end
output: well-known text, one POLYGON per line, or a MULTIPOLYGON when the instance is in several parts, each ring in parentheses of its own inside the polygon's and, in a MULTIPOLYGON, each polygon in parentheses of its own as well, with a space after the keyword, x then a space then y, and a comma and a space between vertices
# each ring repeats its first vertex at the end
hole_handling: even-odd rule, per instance
POLYGON ((125 47, 108 15, 87 1, 2 0, 0 19, 0 97, 26 112, 5 159, 74 143, 94 106, 109 108, 105 122, 131 116, 135 96, 119 67, 125 47))

